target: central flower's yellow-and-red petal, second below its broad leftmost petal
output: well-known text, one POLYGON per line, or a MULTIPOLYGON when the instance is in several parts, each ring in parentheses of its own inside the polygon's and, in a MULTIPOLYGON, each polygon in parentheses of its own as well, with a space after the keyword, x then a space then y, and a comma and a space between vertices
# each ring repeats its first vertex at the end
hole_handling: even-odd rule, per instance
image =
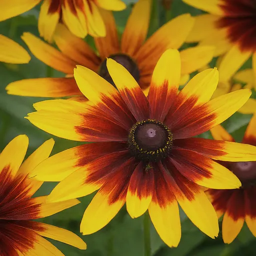
POLYGON ((47 201, 67 200, 94 192, 108 182, 114 173, 120 171, 119 166, 129 158, 128 150, 96 158, 59 182, 48 195, 47 201))

